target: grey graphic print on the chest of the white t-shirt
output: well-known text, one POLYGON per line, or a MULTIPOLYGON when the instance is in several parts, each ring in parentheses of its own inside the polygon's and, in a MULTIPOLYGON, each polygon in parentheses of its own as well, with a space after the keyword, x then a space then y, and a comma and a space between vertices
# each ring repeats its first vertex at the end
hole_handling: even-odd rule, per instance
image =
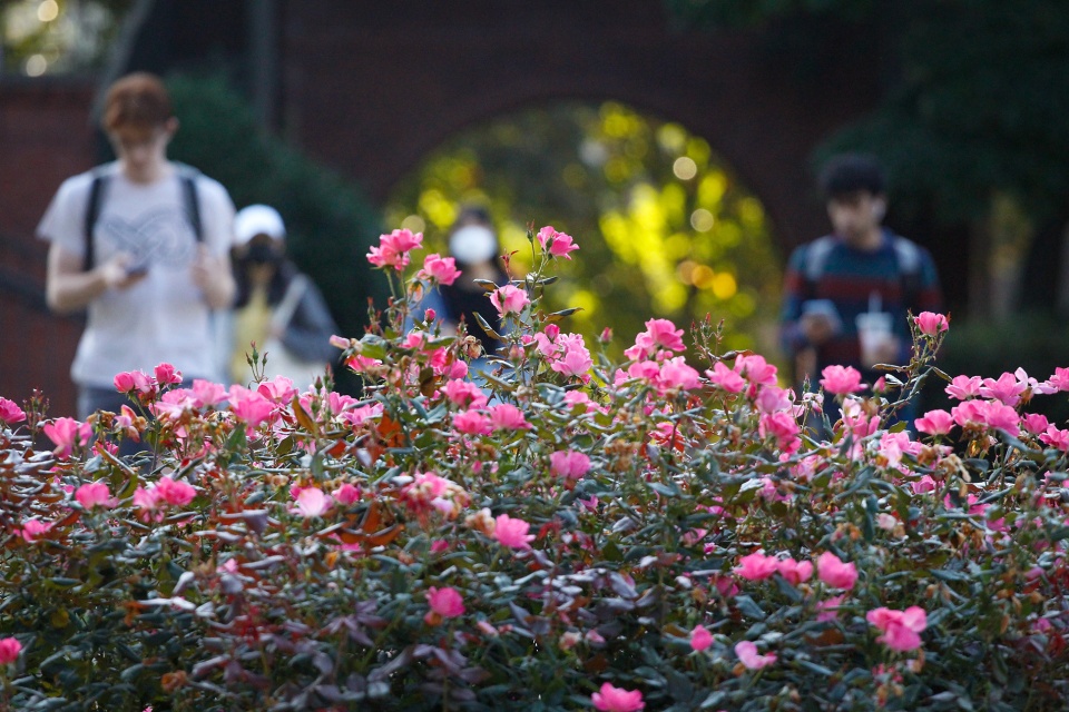
POLYGON ((158 208, 133 221, 108 215, 97 224, 97 238, 116 251, 133 256, 133 265, 186 269, 193 261, 196 238, 184 210, 158 208))

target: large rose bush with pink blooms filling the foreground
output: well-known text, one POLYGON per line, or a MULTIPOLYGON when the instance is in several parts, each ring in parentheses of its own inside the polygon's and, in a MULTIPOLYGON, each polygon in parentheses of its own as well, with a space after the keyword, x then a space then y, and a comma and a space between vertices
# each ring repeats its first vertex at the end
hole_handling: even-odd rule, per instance
POLYGON ((370 255, 382 326, 334 339, 363 399, 166 365, 116 378, 140 414, 0 399, 2 703, 1069 705, 1069 432, 1028 413, 1069 370, 950 378, 934 315, 911 363, 830 370, 834 394, 781 388, 709 320, 706 363, 663 319, 610 363, 540 306, 575 240, 530 238, 536 269, 486 285, 508 346, 474 382, 478 339, 413 317, 420 239, 394 231, 370 255), (951 412, 889 425, 940 378, 951 412), (121 459, 124 438, 154 452, 121 459))

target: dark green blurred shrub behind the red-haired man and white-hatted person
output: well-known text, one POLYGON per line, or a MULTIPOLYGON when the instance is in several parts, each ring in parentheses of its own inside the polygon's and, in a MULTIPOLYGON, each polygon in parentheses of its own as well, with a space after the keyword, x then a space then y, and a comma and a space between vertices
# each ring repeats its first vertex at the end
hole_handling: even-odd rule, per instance
POLYGON ((223 77, 175 76, 168 88, 182 121, 170 157, 226 186, 238 209, 277 208, 290 256, 323 290, 341 332, 362 334, 369 299, 385 294, 364 257, 381 231, 375 209, 356 186, 261 129, 223 77))

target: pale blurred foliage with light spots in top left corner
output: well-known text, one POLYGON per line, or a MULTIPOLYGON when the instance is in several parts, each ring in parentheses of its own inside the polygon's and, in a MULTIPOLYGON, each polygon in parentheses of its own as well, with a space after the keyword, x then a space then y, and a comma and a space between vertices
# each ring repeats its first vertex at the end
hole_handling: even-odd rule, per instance
POLYGON ((134 0, 0 2, 0 72, 40 76, 98 67, 134 0))

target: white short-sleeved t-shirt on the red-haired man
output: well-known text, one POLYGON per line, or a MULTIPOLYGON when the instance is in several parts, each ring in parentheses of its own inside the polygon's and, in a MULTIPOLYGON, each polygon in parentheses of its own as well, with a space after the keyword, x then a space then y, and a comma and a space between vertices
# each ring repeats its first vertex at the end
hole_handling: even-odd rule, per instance
MULTIPOLYGON (((147 264, 148 275, 90 303, 71 378, 80 386, 110 388, 117 373, 150 374, 163 362, 186 378, 217 377, 210 310, 190 273, 197 240, 178 170, 151 184, 131 182, 117 162, 98 170, 108 180, 94 230, 94 266, 125 251, 133 264, 147 264)), ((38 237, 85 256, 92 178, 85 172, 63 181, 37 228, 38 237)), ((234 204, 226 189, 206 176, 197 175, 196 187, 204 244, 223 255, 233 241, 234 204)))

